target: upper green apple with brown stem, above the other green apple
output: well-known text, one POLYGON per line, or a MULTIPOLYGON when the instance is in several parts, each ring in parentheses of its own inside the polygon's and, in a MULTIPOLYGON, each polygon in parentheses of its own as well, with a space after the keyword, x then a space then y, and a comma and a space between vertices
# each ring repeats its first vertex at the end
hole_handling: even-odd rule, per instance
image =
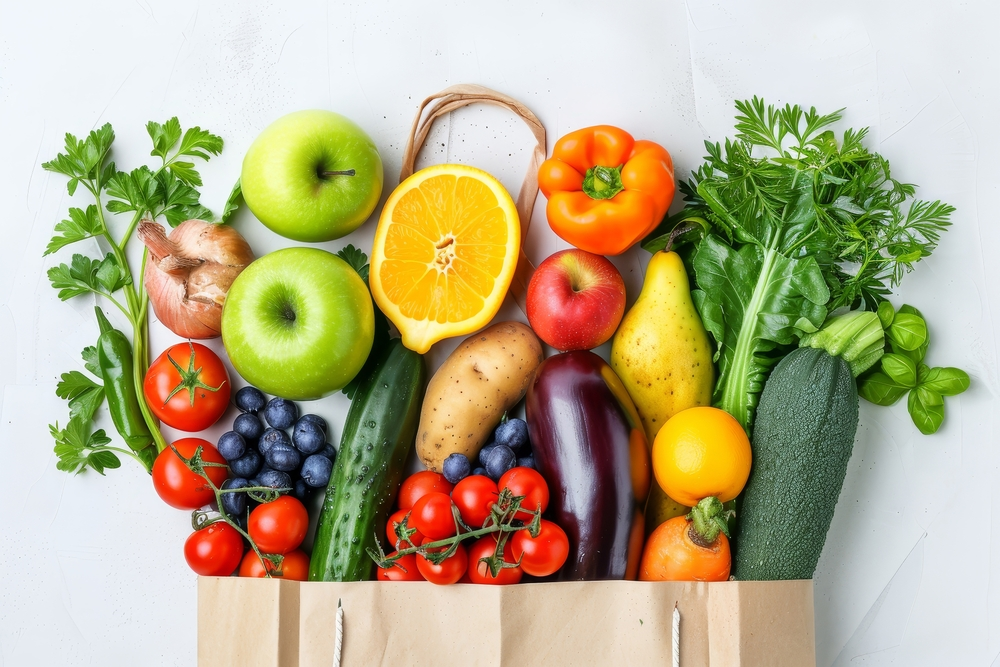
POLYGON ((318 243, 350 234, 382 194, 382 159, 365 131, 332 111, 296 111, 265 128, 243 158, 247 206, 272 231, 318 243))

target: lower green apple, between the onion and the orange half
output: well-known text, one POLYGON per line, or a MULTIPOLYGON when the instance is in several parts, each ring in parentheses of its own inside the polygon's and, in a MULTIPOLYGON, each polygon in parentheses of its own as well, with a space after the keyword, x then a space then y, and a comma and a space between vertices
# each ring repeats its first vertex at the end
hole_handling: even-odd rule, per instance
POLYGON ((342 389, 364 365, 374 334, 368 287, 347 262, 319 248, 255 260, 222 309, 233 367, 262 391, 293 400, 342 389))

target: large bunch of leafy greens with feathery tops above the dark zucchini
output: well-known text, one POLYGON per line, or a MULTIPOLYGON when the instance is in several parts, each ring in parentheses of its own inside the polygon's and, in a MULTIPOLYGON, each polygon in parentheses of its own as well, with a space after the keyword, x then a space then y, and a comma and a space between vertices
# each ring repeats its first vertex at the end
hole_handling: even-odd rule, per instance
POLYGON ((680 225, 708 228, 691 265, 718 345, 714 402, 749 430, 764 378, 796 338, 838 308, 875 310, 954 209, 914 201, 864 146, 867 129, 834 134, 841 111, 756 97, 736 109, 735 138, 705 143, 705 163, 680 184, 686 207, 643 247, 663 248, 680 225))

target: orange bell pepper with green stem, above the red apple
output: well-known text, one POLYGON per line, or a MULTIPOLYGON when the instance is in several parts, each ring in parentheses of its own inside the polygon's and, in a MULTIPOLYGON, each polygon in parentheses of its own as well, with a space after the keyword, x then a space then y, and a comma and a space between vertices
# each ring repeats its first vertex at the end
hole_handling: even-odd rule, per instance
POLYGON ((570 132, 538 170, 552 231, 581 250, 620 255, 660 224, 674 198, 663 146, 610 125, 570 132))

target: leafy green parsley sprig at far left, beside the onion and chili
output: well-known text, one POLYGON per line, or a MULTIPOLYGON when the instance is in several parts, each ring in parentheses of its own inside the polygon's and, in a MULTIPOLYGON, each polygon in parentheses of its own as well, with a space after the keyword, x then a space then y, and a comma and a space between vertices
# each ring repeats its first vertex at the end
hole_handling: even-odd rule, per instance
MULTIPOLYGON (((72 196, 82 186, 93 198, 85 208, 71 207, 68 216, 56 224, 55 234, 45 248, 45 255, 66 246, 96 239, 102 249, 99 258, 75 253, 68 263, 48 271, 49 281, 65 301, 74 297, 94 295, 112 303, 132 327, 132 381, 139 395, 144 420, 153 433, 157 450, 166 442, 157 421, 142 397, 142 382, 149 365, 149 330, 146 313, 149 297, 143 289, 142 266, 133 273, 125 254, 139 221, 143 218, 164 219, 172 227, 189 218, 212 220, 213 214, 201 204, 197 190, 202 185, 195 160, 207 161, 222 152, 223 141, 207 130, 192 127, 183 131, 176 117, 165 123, 150 121, 146 131, 152 141, 150 155, 159 158, 159 165, 141 165, 131 171, 119 171, 111 160, 115 133, 110 124, 91 131, 83 138, 66 134, 62 153, 45 162, 42 168, 68 177, 66 189, 72 196), (115 218, 128 219, 122 229, 115 218)), ((226 222, 238 206, 239 183, 226 202, 222 222, 226 222)), ((84 366, 97 378, 96 350, 84 350, 84 366)), ((79 371, 62 375, 56 394, 69 401, 70 419, 65 428, 51 425, 56 442, 55 452, 60 470, 79 473, 87 468, 103 474, 105 469, 121 465, 117 454, 137 458, 127 449, 113 447, 102 430, 93 428, 93 419, 104 402, 104 386, 79 371)), ((140 462, 142 459, 137 458, 140 462)), ((145 464, 144 464, 145 465, 145 464)))

